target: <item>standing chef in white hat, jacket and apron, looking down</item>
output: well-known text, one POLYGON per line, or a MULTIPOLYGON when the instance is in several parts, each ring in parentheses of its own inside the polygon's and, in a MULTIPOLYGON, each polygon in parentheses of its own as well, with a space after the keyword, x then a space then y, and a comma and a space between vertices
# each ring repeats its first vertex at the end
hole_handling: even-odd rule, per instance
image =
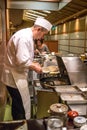
POLYGON ((13 120, 31 117, 28 72, 34 70, 42 73, 40 64, 33 63, 34 40, 44 38, 51 27, 52 24, 48 20, 37 18, 32 27, 21 29, 13 34, 7 44, 1 80, 12 98, 13 120))

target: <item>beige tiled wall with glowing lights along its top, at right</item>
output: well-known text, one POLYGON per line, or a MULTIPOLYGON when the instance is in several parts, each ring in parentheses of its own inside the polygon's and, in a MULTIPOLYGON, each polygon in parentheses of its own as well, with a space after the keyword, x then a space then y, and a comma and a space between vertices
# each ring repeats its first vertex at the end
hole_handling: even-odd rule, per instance
POLYGON ((56 26, 47 39, 58 41, 60 53, 84 53, 87 51, 87 16, 56 26))

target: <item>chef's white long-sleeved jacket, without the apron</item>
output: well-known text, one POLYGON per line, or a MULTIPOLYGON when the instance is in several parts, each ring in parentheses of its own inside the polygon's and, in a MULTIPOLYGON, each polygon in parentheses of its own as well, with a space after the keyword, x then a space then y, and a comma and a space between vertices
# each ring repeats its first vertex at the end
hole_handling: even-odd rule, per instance
POLYGON ((7 45, 5 64, 2 74, 4 84, 16 88, 11 69, 18 73, 29 70, 29 65, 34 57, 34 41, 31 28, 22 29, 16 32, 7 45))

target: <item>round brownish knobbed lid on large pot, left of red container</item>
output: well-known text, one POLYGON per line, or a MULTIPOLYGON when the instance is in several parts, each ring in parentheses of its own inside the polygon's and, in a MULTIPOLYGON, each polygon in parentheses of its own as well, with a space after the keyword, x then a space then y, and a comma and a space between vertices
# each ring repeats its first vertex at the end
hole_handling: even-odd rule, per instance
POLYGON ((50 110, 54 113, 65 113, 68 111, 68 107, 65 104, 55 103, 50 106, 50 110))

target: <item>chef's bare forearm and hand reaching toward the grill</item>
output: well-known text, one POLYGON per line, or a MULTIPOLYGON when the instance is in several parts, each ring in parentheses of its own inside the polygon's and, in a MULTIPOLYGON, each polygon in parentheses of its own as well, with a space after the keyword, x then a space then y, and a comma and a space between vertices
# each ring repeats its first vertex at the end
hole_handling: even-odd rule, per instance
POLYGON ((42 67, 39 63, 32 62, 29 69, 36 71, 37 73, 42 73, 42 67))

